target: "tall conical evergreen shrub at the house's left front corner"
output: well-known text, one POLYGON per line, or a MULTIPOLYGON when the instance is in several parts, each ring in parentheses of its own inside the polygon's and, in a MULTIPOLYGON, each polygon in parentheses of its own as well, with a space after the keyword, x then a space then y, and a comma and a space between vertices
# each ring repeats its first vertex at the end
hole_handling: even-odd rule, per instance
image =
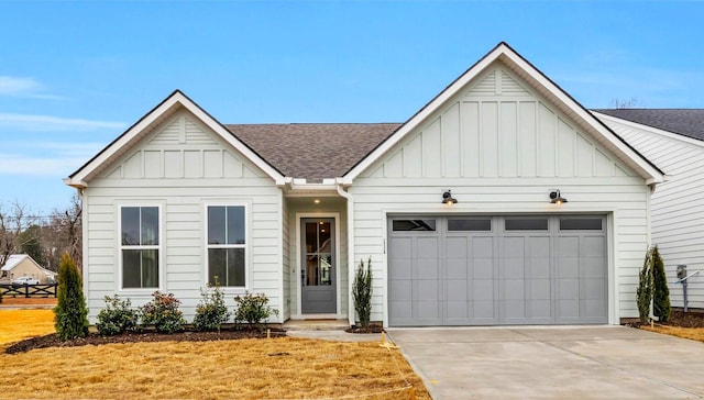
POLYGON ((58 266, 58 303, 54 308, 54 326, 61 341, 88 335, 88 307, 82 287, 76 263, 64 253, 58 266))

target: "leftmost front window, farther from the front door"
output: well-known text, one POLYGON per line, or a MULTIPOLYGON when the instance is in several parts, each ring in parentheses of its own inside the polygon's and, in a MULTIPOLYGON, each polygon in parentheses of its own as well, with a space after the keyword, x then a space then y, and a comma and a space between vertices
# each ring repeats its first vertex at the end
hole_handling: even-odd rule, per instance
POLYGON ((120 221, 122 287, 158 288, 158 207, 123 207, 120 221))

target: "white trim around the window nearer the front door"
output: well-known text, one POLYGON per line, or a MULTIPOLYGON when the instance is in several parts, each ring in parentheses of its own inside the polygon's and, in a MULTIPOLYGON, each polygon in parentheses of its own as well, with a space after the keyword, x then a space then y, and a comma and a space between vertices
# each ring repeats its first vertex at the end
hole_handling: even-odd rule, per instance
POLYGON ((213 248, 244 248, 244 286, 224 286, 220 287, 228 290, 228 293, 232 291, 233 293, 244 293, 250 290, 250 268, 252 266, 252 218, 250 215, 251 204, 244 201, 212 201, 204 204, 202 211, 202 243, 204 243, 204 271, 202 271, 202 285, 204 287, 208 286, 208 270, 210 268, 210 258, 208 257, 208 249, 210 248, 210 244, 208 243, 208 208, 210 207, 243 207, 244 208, 244 244, 229 244, 229 245, 217 245, 213 248))

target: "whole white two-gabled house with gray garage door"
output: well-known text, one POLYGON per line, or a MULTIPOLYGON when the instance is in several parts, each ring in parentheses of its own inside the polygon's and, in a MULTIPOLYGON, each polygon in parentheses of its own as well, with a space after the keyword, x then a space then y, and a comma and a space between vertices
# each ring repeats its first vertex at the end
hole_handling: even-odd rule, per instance
POLYGON ((191 319, 217 277, 272 322, 353 323, 371 259, 372 321, 418 326, 637 316, 663 179, 499 43, 402 124, 224 125, 176 90, 65 182, 91 321, 157 289, 191 319))

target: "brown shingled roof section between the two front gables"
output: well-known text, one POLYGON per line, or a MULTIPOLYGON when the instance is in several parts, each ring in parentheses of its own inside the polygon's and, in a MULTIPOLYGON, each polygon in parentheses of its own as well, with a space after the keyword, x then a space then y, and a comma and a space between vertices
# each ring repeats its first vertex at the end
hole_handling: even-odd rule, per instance
POLYGON ((399 123, 226 124, 284 176, 320 182, 342 177, 399 123))

